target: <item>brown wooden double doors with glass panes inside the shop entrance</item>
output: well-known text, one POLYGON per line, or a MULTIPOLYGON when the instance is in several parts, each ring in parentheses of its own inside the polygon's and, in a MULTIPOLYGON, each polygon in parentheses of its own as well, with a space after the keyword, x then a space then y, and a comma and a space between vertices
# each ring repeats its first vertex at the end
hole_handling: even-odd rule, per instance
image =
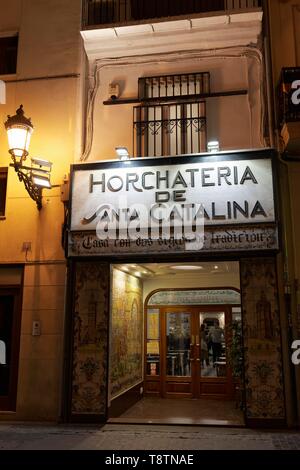
POLYGON ((162 395, 230 398, 231 309, 168 307, 161 311, 161 322, 162 395))

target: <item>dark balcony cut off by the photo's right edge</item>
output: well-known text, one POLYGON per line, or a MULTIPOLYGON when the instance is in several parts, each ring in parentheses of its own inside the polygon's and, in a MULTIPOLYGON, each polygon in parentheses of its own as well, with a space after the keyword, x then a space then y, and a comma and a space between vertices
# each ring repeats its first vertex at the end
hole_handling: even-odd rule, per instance
POLYGON ((285 152, 300 156, 300 67, 282 69, 278 105, 278 125, 285 152))

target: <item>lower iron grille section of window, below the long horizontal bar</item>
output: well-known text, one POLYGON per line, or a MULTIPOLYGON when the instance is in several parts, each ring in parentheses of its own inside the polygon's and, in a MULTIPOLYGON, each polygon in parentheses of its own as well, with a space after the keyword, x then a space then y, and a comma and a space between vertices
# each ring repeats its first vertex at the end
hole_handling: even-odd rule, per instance
POLYGON ((205 101, 136 106, 133 113, 136 157, 206 151, 205 101))

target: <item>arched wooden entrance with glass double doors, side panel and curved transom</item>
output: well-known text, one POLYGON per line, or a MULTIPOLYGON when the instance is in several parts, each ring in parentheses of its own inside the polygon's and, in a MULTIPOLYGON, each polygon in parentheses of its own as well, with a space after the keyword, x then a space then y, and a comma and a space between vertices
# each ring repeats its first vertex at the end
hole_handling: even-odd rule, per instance
POLYGON ((243 363, 237 289, 158 290, 146 300, 145 318, 146 395, 234 398, 233 358, 243 363))

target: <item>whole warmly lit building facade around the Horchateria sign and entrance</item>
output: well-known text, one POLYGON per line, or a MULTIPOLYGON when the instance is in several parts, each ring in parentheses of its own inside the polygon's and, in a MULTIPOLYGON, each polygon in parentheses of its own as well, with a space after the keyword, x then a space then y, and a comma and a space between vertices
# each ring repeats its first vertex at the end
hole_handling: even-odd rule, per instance
POLYGON ((28 3, 0 2, 2 50, 17 47, 0 111, 4 122, 22 103, 32 116, 30 155, 53 162, 54 187, 38 211, 8 171, 3 127, 1 418, 105 421, 142 395, 225 402, 239 390, 246 425, 295 425, 296 199, 280 190, 270 71, 297 62, 276 62, 276 12, 258 1, 28 3), (174 214, 200 203, 205 237, 190 245, 174 214), (157 237, 139 219, 155 205, 171 225, 164 234, 156 219, 157 237), (142 236, 131 238, 134 220, 142 236))

